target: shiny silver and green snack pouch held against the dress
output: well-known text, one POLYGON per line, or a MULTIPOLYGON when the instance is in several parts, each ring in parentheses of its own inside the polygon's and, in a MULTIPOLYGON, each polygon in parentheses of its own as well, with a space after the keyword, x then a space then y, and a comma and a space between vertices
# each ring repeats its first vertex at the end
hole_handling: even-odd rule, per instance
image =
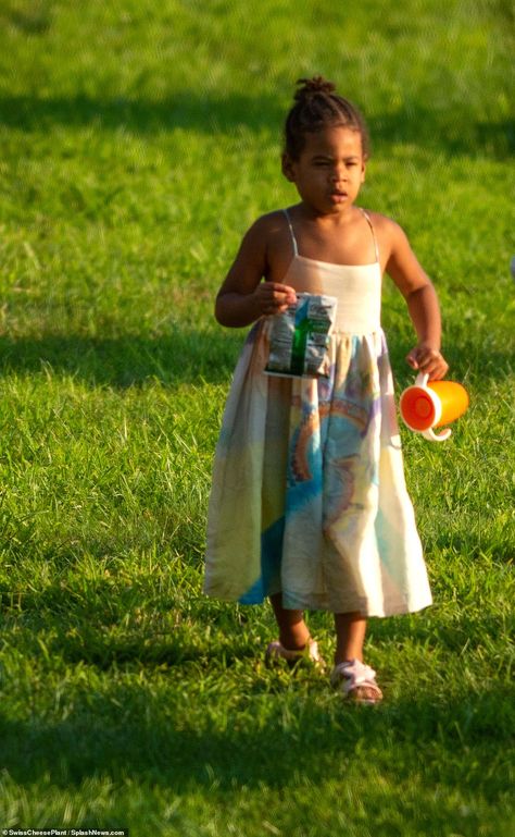
POLYGON ((297 294, 294 305, 271 318, 267 374, 328 377, 327 346, 337 301, 335 296, 297 294))

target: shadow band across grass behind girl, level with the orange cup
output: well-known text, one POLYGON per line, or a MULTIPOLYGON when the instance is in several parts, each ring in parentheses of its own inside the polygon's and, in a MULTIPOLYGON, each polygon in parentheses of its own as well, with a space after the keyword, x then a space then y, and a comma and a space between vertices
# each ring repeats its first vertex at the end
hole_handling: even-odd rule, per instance
MULTIPOLYGON (((387 334, 389 354, 398 389, 413 382, 413 371, 405 362, 406 344, 397 344, 387 334)), ((243 346, 246 330, 175 329, 163 336, 122 335, 88 337, 47 334, 42 337, 0 336, 0 374, 34 374, 50 370, 71 376, 89 385, 125 389, 148 380, 164 384, 227 383, 243 346)), ((474 384, 488 386, 504 380, 512 371, 511 346, 505 353, 492 350, 483 342, 445 348, 450 378, 472 378, 474 384), (474 370, 478 370, 477 373, 474 370)))

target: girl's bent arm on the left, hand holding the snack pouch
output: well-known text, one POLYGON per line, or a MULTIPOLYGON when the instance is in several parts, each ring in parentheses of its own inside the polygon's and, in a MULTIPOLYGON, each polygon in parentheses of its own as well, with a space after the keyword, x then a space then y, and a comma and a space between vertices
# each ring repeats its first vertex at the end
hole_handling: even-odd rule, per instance
POLYGON ((247 232, 238 255, 216 296, 221 325, 242 328, 260 317, 281 313, 296 301, 288 285, 263 279, 271 272, 267 257, 268 219, 260 218, 247 232))

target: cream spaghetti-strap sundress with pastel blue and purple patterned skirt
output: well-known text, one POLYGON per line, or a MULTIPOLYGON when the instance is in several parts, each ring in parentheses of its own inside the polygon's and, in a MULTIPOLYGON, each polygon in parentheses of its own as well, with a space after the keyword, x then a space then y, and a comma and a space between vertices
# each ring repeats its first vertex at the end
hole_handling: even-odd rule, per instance
MULTIPOLYGON (((363 211, 363 210, 362 210, 363 211)), ((264 373, 272 318, 252 328, 215 453, 204 592, 291 610, 388 616, 431 603, 406 491, 376 261, 299 254, 282 280, 337 298, 329 376, 264 373)))

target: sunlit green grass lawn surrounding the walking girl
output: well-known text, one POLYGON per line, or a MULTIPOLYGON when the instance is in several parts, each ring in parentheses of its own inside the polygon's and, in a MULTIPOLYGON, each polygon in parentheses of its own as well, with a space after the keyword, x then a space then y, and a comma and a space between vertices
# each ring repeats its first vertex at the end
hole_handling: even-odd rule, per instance
MULTIPOLYGON (((0 827, 513 834, 513 23, 505 0, 1 0, 0 827), (294 200, 281 122, 317 72, 368 119, 363 205, 407 230, 472 397, 447 444, 403 431, 436 604, 370 623, 372 712, 266 670, 268 608, 201 593, 243 340, 213 297, 294 200)), ((384 323, 401 389, 388 282, 384 323)))

